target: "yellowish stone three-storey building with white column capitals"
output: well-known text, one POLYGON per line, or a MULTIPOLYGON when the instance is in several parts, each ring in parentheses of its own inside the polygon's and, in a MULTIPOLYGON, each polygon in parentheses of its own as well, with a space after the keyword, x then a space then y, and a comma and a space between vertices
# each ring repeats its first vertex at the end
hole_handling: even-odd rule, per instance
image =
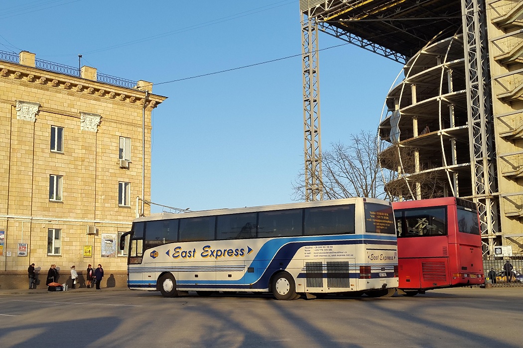
POLYGON ((166 99, 151 92, 0 52, 0 289, 27 288, 32 262, 38 287, 52 264, 60 283, 75 265, 83 286, 89 263, 103 265, 102 287, 126 286, 119 234, 149 214, 151 112, 166 99))

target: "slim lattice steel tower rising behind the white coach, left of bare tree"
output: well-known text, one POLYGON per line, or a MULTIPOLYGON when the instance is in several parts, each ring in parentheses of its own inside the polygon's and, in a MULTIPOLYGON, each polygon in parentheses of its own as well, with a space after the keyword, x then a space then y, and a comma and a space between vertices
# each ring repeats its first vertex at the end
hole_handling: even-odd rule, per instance
POLYGON ((302 67, 303 67, 303 130, 305 151, 305 199, 323 199, 321 132, 320 132, 320 76, 318 57, 318 26, 308 14, 301 13, 302 67))

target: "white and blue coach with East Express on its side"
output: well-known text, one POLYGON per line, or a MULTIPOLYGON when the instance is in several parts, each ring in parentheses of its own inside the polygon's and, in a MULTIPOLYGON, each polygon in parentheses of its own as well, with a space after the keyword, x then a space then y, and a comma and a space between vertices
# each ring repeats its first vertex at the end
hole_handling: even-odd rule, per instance
POLYGON ((378 199, 153 214, 133 221, 121 249, 127 235, 129 289, 165 297, 390 296, 398 286, 394 214, 378 199))

